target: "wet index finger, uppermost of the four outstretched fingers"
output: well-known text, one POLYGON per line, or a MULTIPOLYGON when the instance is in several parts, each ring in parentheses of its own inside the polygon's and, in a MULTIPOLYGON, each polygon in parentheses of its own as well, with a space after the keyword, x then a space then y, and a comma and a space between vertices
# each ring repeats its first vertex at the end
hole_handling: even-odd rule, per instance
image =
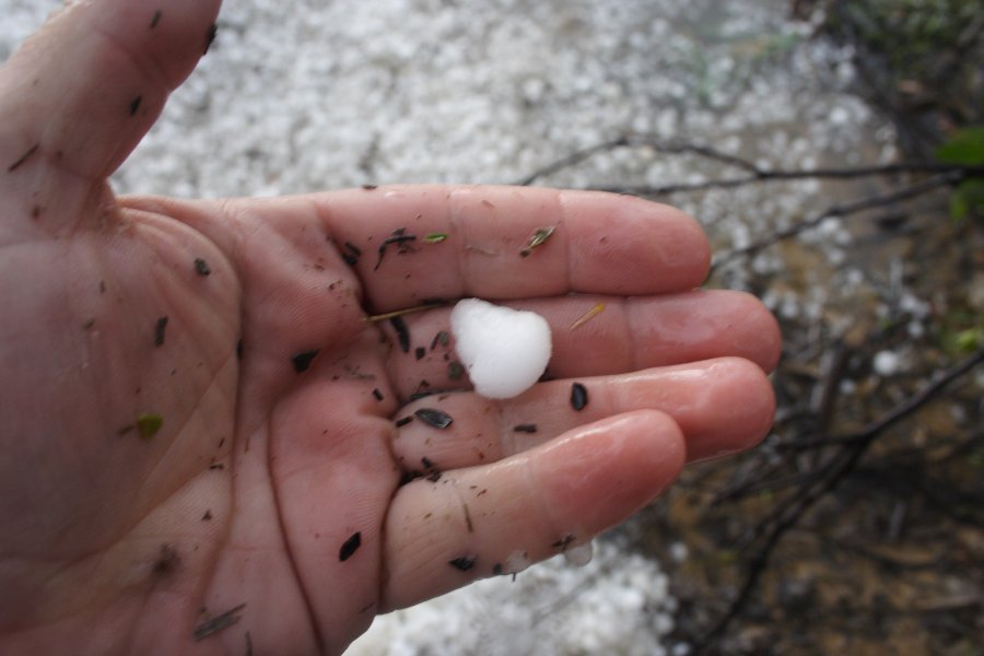
POLYGON ((429 298, 683 291, 710 262, 693 219, 625 196, 420 186, 311 198, 336 244, 350 249, 376 312, 429 298), (550 236, 531 247, 544 229, 550 236))

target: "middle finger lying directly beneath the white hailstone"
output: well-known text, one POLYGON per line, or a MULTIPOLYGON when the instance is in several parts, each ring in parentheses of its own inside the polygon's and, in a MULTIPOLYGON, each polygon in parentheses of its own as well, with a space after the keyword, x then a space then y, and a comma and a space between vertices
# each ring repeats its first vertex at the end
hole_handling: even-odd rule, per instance
MULTIPOLYGON (((780 355, 781 335, 772 313, 741 292, 567 296, 504 305, 536 312, 550 324, 553 352, 548 372, 554 378, 621 374, 724 356, 750 360, 768 372, 780 355)), ((389 370, 402 398, 471 389, 455 353, 449 315, 449 308, 409 314, 402 317, 399 331, 379 321, 397 344, 389 370)))

